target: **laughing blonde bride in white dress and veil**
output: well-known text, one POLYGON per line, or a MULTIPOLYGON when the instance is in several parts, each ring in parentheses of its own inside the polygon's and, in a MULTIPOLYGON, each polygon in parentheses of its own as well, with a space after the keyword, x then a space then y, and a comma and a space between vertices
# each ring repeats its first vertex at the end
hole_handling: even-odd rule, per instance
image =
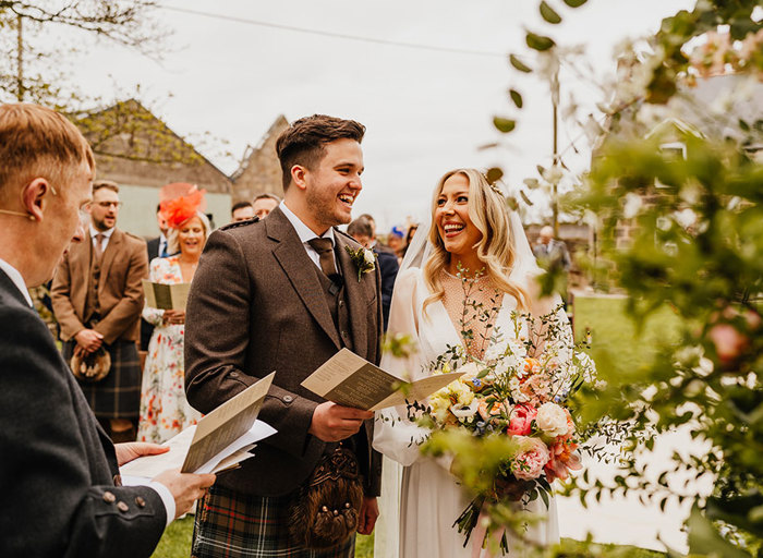
MULTIPOLYGON (((512 311, 541 316, 553 310, 555 301, 537 295, 534 277, 540 271, 519 217, 481 172, 446 173, 434 192, 428 233, 424 229, 419 229, 398 275, 388 329, 409 336, 417 352, 405 360, 385 355, 385 369, 419 379, 428 374, 428 362, 458 344, 481 359, 489 348, 491 331, 505 337, 513 331, 512 311), (462 277, 473 284, 470 302, 499 308, 492 313, 493 324, 464 316, 462 277), (464 318, 473 332, 467 339, 460 333, 464 318)), ((453 526, 470 496, 450 474, 449 460, 420 453, 419 444, 427 434, 407 420, 404 408, 377 415, 374 448, 385 456, 385 471, 375 556, 488 556, 486 550, 480 554, 481 542, 474 551, 471 539, 464 547, 464 535, 453 526)), ((522 541, 509 541, 511 558, 522 556, 524 541, 546 545, 559 539, 553 498, 548 509, 540 499, 526 509, 543 519, 528 526, 522 541)))

